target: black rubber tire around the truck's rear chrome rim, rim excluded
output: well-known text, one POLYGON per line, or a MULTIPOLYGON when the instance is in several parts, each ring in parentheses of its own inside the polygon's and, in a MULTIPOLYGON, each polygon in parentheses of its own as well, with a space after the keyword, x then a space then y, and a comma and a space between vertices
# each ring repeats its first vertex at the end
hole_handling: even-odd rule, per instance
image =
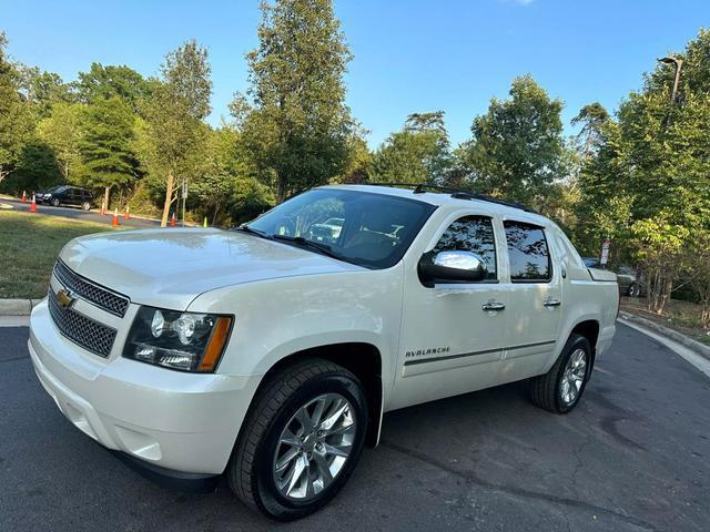
POLYGON ((589 340, 584 336, 577 335, 572 332, 565 344, 565 348, 560 354, 559 358, 555 362, 555 365, 550 368, 550 370, 540 375, 539 377, 534 377, 530 379, 530 400, 532 403, 537 405, 545 410, 549 410, 552 413, 567 413, 570 412, 581 399, 581 396, 585 391, 585 387, 587 386, 587 381, 589 380, 589 372, 591 371, 591 347, 589 346, 589 340), (581 388, 577 395, 577 398, 570 402, 566 403, 562 400, 561 392, 561 379, 565 372, 565 368, 567 367, 567 361, 572 356, 577 349, 584 349, 586 354, 586 370, 585 377, 581 382, 581 388))

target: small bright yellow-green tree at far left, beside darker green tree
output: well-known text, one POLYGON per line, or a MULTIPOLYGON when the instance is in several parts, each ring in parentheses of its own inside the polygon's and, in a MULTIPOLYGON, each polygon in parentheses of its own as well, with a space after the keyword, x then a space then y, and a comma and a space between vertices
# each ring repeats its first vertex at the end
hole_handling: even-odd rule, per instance
POLYGON ((81 173, 83 116, 81 105, 58 102, 52 106, 51 114, 37 124, 37 136, 54 151, 65 183, 75 181, 74 174, 81 173))

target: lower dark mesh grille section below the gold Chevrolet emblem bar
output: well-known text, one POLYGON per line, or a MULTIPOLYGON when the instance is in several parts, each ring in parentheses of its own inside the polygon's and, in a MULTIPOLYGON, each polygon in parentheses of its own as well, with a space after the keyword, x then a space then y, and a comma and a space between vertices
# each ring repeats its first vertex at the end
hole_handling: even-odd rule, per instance
POLYGON ((71 307, 62 307, 57 294, 49 290, 49 313, 59 331, 74 344, 106 358, 111 354, 116 330, 95 321, 71 307))

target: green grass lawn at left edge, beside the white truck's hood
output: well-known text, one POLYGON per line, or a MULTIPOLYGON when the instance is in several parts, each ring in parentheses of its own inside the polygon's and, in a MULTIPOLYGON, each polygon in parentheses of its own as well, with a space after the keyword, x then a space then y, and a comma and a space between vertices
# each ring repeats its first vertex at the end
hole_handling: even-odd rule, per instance
POLYGON ((61 248, 112 227, 59 216, 0 211, 0 298, 39 299, 61 248))

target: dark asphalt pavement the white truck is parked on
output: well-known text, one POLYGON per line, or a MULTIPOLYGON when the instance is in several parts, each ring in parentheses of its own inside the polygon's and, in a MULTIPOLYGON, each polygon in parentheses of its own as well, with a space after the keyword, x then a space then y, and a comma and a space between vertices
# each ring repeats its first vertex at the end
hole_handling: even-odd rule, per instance
POLYGON ((291 524, 224 482, 184 494, 128 469, 62 417, 27 336, 0 327, 3 531, 710 530, 710 380, 623 325, 572 413, 525 383, 392 412, 343 492, 291 524))

